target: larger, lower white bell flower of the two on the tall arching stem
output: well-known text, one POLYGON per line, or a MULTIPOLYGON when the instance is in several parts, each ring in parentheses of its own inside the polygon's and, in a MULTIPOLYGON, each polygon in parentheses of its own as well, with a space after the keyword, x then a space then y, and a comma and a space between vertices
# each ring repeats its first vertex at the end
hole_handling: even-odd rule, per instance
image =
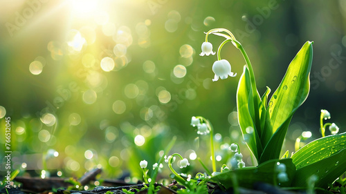
POLYGON ((230 63, 226 59, 215 61, 212 65, 212 71, 215 73, 214 79, 212 79, 212 81, 219 80, 219 77, 221 79, 226 79, 228 75, 230 77, 235 77, 237 73, 231 72, 230 70, 230 63))

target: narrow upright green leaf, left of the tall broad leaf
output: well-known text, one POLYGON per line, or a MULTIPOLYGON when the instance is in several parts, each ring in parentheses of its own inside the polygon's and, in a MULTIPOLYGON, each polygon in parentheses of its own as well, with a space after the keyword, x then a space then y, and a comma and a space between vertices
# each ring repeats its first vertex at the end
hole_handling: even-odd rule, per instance
POLYGON ((262 144, 260 143, 260 137, 255 127, 255 110, 253 106, 250 74, 248 68, 244 66, 244 72, 239 79, 239 85, 237 88, 238 121, 248 148, 250 148, 251 152, 258 160, 262 153, 262 144), (246 128, 248 127, 252 127, 253 130, 246 131, 246 128))

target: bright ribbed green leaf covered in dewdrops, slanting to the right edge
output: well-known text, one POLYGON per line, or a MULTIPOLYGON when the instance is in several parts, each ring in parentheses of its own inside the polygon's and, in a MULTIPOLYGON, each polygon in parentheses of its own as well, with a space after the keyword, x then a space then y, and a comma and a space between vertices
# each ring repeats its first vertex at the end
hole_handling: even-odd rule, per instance
POLYGON ((294 153, 292 155, 293 163, 299 169, 325 159, 343 148, 346 148, 346 133, 322 137, 310 142, 294 153))

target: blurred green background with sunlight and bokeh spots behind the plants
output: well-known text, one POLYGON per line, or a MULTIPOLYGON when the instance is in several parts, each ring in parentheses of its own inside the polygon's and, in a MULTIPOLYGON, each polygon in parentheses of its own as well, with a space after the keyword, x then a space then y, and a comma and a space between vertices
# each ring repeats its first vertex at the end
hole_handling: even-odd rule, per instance
MULTIPOLYGON (((196 156, 210 166, 208 137, 190 126, 197 115, 218 133, 218 168, 228 144, 248 155, 235 112, 245 61, 226 44, 221 58, 237 77, 212 82, 217 57, 199 56, 212 28, 243 44, 261 95, 266 86, 275 91, 303 43, 314 41, 310 95, 284 150, 293 152, 304 130, 313 133, 308 142, 320 137, 320 109, 345 131, 345 0, 5 0, 0 21, 0 157, 11 117, 12 167, 21 175, 80 177, 98 166, 105 178, 140 177, 140 160, 154 164, 174 135, 172 152, 197 171, 196 156)), ((216 51, 223 39, 208 41, 216 51)))

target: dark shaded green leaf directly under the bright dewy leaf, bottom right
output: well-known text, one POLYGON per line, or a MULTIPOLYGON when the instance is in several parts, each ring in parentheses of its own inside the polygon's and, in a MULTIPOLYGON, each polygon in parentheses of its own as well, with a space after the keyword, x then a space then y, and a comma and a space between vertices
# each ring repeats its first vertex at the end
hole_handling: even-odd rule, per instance
MULTIPOLYGON (((322 155, 321 155, 322 156, 322 155)), ((318 180, 316 187, 327 188, 340 175, 346 172, 346 148, 323 157, 323 159, 299 168, 295 172, 295 176, 291 186, 307 186, 307 180, 311 175, 317 175, 318 180)))

